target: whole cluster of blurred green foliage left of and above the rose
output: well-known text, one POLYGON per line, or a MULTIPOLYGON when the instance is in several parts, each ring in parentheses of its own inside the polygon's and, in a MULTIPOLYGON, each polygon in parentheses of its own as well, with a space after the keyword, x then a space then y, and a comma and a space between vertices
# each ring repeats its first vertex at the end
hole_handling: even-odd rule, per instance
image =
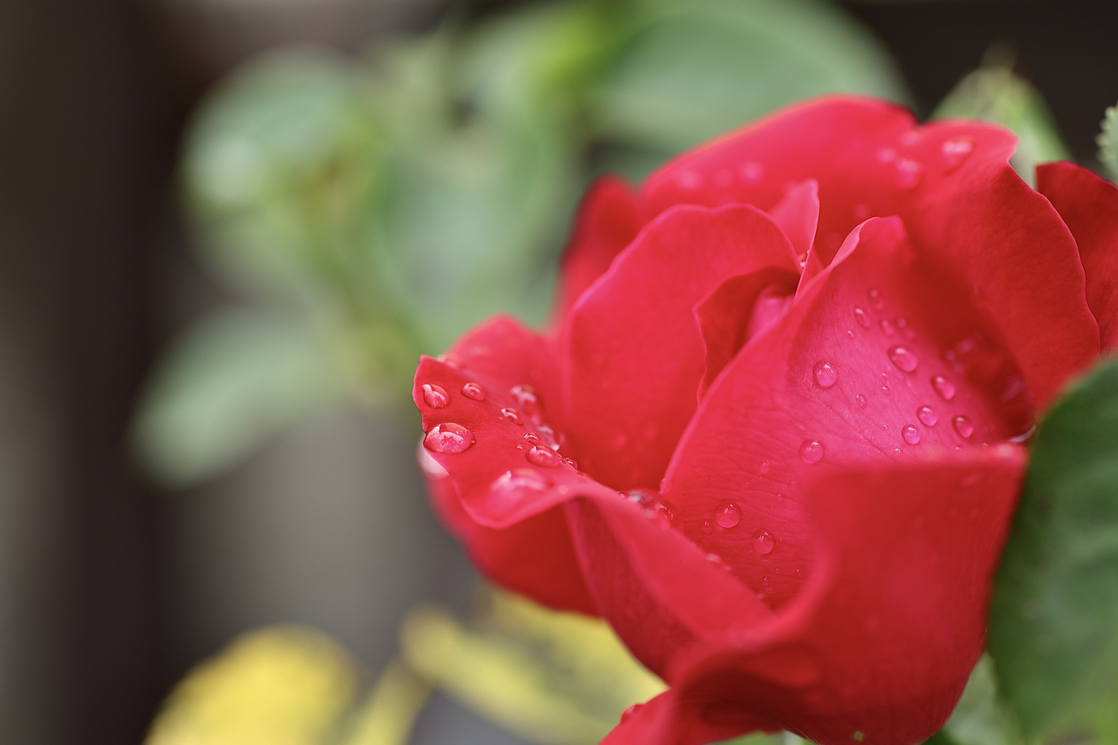
POLYGON ((188 332, 143 401, 141 453, 183 485, 331 398, 406 404, 420 352, 494 312, 546 317, 591 175, 639 179, 836 90, 906 99, 881 45, 822 0, 529 6, 360 58, 252 61, 198 112, 183 184, 209 265, 293 340, 229 343, 244 309, 188 332))

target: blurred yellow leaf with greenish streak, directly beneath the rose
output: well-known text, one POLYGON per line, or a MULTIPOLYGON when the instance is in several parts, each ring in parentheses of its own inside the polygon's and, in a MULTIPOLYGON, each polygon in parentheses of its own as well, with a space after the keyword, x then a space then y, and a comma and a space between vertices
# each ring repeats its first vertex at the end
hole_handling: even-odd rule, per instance
POLYGON ((466 625, 435 608, 404 622, 405 660, 511 732, 544 745, 593 745, 627 706, 665 689, 603 621, 486 592, 466 625))

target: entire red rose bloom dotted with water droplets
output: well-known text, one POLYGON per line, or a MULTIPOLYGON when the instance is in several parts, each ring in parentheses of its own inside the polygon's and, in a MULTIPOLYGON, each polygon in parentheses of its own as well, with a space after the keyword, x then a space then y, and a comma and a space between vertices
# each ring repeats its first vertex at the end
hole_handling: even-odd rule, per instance
POLYGON ((543 333, 499 317, 414 398, 493 581, 599 614, 671 689, 605 742, 909 744, 983 651, 1069 375, 1118 342, 1118 189, 1015 139, 828 97, 597 182, 543 333))

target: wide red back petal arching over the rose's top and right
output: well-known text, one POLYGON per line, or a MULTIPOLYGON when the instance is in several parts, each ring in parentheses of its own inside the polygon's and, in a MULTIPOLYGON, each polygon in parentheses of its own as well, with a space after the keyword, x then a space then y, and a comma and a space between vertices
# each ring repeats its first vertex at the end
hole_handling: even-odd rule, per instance
POLYGON ((899 214, 912 241, 963 276, 1045 405, 1098 355, 1070 232, 1008 165, 998 127, 917 127, 883 102, 830 97, 796 106, 685 154, 645 183, 650 213, 673 204, 767 208, 783 184, 819 184, 815 251, 825 265, 870 216, 899 214))

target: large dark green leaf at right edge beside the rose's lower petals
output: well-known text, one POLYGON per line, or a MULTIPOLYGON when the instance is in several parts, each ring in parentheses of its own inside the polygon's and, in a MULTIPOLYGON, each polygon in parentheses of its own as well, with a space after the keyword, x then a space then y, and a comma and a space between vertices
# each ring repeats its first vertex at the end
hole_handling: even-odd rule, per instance
POLYGON ((1040 424, 989 615, 1025 734, 1118 742, 1118 361, 1040 424))

